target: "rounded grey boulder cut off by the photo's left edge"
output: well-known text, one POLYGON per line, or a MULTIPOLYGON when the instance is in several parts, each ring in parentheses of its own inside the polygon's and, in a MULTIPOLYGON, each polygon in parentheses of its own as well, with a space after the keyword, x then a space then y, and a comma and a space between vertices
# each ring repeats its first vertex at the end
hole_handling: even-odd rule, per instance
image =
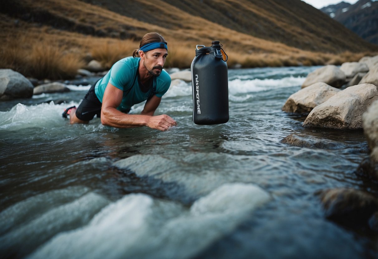
POLYGON ((19 72, 0 69, 0 100, 31 98, 33 84, 19 72))

